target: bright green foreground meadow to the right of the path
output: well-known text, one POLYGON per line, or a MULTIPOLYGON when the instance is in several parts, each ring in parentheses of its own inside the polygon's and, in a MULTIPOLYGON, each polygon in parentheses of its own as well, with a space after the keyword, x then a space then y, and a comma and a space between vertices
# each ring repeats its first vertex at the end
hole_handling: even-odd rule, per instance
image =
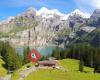
POLYGON ((94 74, 92 68, 85 67, 83 73, 79 72, 78 60, 61 60, 60 65, 67 72, 61 70, 38 70, 31 73, 25 80, 100 80, 100 74, 94 74))

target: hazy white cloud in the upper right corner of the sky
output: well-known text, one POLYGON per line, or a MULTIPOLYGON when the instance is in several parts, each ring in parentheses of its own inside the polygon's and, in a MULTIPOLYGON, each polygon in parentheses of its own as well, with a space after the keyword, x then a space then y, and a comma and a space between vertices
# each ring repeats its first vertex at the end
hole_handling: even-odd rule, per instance
POLYGON ((100 9, 100 0, 74 0, 77 7, 87 13, 92 14, 95 9, 100 9))

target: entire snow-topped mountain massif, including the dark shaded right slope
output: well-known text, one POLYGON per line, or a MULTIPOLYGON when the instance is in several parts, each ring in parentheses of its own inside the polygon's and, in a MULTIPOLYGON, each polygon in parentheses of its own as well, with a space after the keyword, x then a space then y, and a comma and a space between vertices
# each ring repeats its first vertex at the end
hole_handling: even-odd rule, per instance
POLYGON ((90 16, 78 9, 63 14, 57 9, 30 7, 22 14, 0 22, 0 40, 8 41, 14 47, 65 48, 74 43, 100 46, 100 43, 95 43, 97 38, 100 38, 99 9, 90 16))

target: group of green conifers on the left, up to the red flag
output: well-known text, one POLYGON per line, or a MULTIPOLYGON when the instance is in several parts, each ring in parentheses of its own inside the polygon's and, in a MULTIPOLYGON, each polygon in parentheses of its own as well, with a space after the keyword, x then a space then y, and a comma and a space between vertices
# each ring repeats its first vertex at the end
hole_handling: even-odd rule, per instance
POLYGON ((9 42, 0 42, 0 56, 5 61, 3 65, 8 71, 14 71, 29 63, 27 58, 30 52, 29 47, 24 48, 23 56, 20 55, 15 48, 13 48, 9 42))

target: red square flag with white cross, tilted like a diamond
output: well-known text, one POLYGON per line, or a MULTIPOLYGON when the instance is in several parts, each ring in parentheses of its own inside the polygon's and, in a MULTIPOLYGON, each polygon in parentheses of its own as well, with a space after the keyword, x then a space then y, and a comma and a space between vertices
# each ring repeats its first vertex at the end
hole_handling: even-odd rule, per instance
POLYGON ((28 54, 28 58, 32 62, 37 62, 39 59, 42 58, 42 56, 37 50, 32 49, 32 51, 28 54))

